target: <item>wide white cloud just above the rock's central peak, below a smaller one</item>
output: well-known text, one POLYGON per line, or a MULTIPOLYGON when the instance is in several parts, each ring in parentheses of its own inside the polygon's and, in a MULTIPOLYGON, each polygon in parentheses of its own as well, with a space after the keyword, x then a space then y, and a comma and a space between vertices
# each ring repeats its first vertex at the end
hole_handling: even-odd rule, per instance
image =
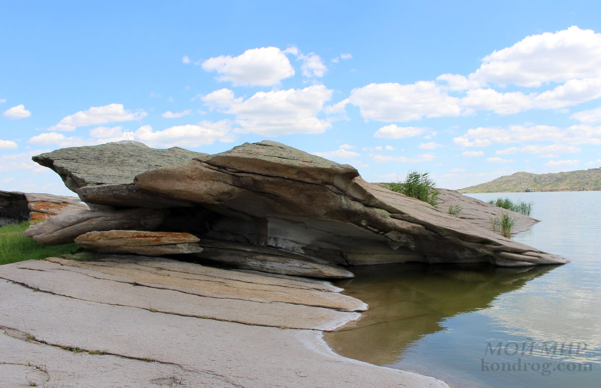
POLYGON ((304 89, 257 92, 248 100, 234 99, 232 91, 221 89, 207 94, 203 100, 222 112, 236 115, 240 126, 236 132, 278 136, 323 133, 329 129, 332 124, 317 115, 331 96, 331 89, 313 85, 304 89))

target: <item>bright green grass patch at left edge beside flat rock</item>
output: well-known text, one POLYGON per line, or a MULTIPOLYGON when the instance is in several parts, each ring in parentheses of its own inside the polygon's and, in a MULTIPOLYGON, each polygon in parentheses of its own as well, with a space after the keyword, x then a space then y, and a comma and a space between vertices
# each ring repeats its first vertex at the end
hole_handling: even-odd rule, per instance
POLYGON ((81 250, 76 244, 43 246, 23 236, 29 222, 0 227, 0 265, 24 260, 41 260, 50 256, 63 256, 81 250))

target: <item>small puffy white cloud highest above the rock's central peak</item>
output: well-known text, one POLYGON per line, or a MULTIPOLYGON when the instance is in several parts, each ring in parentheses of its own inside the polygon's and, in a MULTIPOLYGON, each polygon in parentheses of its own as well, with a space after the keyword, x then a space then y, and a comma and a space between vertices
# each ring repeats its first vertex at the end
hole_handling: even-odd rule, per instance
POLYGON ((234 85, 272 86, 294 75, 290 61, 277 47, 250 49, 233 57, 209 58, 202 67, 221 74, 217 77, 219 81, 230 81, 234 85))

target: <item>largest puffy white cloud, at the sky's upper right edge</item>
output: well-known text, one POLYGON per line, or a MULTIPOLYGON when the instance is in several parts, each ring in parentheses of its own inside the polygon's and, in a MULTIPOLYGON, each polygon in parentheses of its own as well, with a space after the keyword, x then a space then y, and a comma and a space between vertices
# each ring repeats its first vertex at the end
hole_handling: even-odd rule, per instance
POLYGON ((601 34, 572 26, 523 38, 483 58, 470 80, 535 87, 601 76, 601 34))

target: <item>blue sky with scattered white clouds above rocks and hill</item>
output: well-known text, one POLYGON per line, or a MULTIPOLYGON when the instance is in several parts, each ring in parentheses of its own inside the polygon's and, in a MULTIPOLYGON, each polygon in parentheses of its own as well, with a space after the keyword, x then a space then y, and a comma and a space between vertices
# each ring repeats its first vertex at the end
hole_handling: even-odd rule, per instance
POLYGON ((271 139, 460 189, 601 166, 597 1, 21 1, 0 13, 0 189, 31 156, 271 139))

